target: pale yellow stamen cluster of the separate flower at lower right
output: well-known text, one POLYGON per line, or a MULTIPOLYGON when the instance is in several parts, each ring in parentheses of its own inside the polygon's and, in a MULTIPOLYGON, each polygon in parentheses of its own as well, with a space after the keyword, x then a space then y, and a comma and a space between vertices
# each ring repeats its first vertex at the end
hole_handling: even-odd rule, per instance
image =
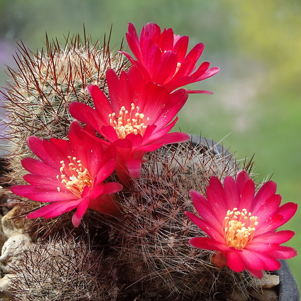
POLYGON ((228 210, 223 223, 224 239, 229 247, 243 249, 252 240, 257 225, 257 216, 246 209, 228 210))

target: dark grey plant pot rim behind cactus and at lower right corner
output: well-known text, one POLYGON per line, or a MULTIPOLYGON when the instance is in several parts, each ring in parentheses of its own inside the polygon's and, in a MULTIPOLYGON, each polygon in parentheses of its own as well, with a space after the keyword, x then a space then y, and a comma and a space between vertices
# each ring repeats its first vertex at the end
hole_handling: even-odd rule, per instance
MULTIPOLYGON (((236 164, 236 160, 229 150, 212 139, 200 137, 198 135, 191 135, 191 142, 194 145, 200 145, 200 147, 203 147, 205 151, 211 150, 214 155, 224 157, 229 161, 229 164, 236 164)), ((280 259, 279 261, 281 262, 281 267, 274 271, 274 274, 279 276, 280 281, 277 285, 279 294, 278 301, 300 301, 299 287, 286 260, 280 259)))

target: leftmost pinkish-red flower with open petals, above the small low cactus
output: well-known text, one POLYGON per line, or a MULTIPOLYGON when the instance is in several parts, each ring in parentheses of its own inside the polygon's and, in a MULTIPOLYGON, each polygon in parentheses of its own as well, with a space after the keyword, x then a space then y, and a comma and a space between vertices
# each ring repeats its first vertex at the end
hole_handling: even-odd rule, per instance
POLYGON ((11 191, 38 202, 53 202, 30 214, 27 218, 52 218, 71 211, 75 227, 88 208, 105 214, 118 211, 110 194, 122 189, 118 183, 103 183, 115 169, 116 150, 103 149, 91 126, 84 130, 77 121, 70 125, 69 141, 51 138, 50 141, 30 136, 27 143, 41 160, 23 159, 23 167, 30 172, 24 179, 30 185, 16 185, 11 191), (87 134, 89 133, 89 135, 87 134))

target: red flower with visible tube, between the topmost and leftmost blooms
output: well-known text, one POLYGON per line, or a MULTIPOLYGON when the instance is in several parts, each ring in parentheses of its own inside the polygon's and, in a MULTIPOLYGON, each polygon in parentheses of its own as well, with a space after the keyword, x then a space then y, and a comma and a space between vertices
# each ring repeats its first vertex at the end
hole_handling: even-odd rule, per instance
POLYGON ((121 72, 120 79, 108 69, 106 78, 109 99, 97 86, 89 85, 95 109, 72 102, 69 110, 74 118, 101 133, 107 144, 116 146, 116 172, 122 184, 128 185, 129 175, 139 177, 145 152, 189 139, 185 133, 168 133, 188 94, 184 89, 169 94, 164 87, 146 83, 135 66, 121 72))

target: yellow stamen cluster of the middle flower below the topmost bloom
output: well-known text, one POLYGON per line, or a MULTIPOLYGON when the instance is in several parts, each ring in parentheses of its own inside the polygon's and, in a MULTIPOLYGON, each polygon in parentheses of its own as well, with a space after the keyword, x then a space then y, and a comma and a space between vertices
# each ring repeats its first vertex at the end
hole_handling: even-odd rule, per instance
MULTIPOLYGON (((144 123, 144 114, 139 113, 139 107, 131 103, 130 111, 124 106, 119 111, 118 118, 116 113, 109 114, 110 125, 114 127, 119 138, 123 139, 129 133, 140 134, 143 136, 146 125, 144 123), (136 110, 134 113, 133 111, 136 110)), ((148 121, 149 118, 146 118, 148 121)))

